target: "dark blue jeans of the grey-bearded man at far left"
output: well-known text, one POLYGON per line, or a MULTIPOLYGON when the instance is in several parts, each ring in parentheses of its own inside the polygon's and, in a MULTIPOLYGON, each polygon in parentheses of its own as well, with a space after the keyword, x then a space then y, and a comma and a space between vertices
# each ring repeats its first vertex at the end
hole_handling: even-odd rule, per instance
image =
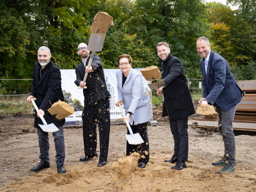
MULTIPOLYGON (((54 137, 55 150, 56 150, 56 164, 63 165, 65 160, 65 144, 64 144, 64 134, 63 134, 63 126, 58 127, 58 131, 53 132, 52 135, 54 137)), ((40 155, 39 158, 44 161, 49 161, 49 136, 48 132, 44 132, 41 128, 37 129, 38 142, 40 155)))

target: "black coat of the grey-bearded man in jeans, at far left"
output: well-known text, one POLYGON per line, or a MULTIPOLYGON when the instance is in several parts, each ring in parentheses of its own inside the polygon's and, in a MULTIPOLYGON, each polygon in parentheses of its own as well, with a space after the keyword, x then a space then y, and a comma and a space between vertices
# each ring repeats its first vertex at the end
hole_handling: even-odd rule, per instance
MULTIPOLYGON (((55 124, 56 127, 64 125, 65 119, 58 120, 56 115, 51 115, 47 110, 52 104, 58 100, 64 101, 64 96, 61 88, 61 75, 59 68, 50 62, 42 69, 39 62, 34 63, 33 81, 31 94, 36 97, 36 105, 38 109, 45 112, 44 119, 50 124, 55 124), (41 74, 41 77, 40 77, 41 74)), ((37 113, 37 112, 36 112, 37 113)), ((38 124, 43 124, 40 117, 35 114, 34 127, 39 128, 38 124)))

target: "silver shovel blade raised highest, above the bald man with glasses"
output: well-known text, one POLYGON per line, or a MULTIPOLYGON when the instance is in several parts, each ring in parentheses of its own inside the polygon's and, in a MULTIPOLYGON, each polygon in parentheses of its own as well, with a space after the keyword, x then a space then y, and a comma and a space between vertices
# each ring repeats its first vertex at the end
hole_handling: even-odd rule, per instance
POLYGON ((92 52, 101 51, 105 37, 106 34, 91 33, 87 50, 92 52))

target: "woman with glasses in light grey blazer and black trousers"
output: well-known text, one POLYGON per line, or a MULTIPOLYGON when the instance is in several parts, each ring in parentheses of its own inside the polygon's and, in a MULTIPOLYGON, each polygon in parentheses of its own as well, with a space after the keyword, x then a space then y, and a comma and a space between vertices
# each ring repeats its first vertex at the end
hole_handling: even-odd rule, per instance
MULTIPOLYGON (((152 118, 152 103, 148 92, 143 86, 140 73, 131 68, 132 58, 130 55, 118 57, 120 71, 116 72, 118 103, 123 102, 126 120, 129 122, 133 133, 139 133, 143 139, 140 145, 126 143, 126 156, 133 152, 140 154, 139 166, 146 167, 149 160, 149 144, 147 134, 147 123, 152 118)), ((127 132, 129 134, 129 132, 127 132)))

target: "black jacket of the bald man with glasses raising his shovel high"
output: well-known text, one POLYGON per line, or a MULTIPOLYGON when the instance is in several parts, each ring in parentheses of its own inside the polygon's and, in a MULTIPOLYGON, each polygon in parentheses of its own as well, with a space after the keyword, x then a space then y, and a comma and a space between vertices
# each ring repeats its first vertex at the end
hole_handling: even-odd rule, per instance
MULTIPOLYGON (((90 60, 90 55, 87 59, 86 66, 90 60)), ((105 82, 104 70, 101 63, 101 58, 97 55, 94 56, 91 62, 91 66, 96 66, 97 69, 90 72, 85 81, 87 89, 83 89, 84 94, 84 105, 89 105, 102 100, 103 98, 110 97, 105 82)), ((76 81, 75 84, 79 86, 80 82, 83 81, 85 75, 85 67, 83 62, 76 66, 76 81)))

